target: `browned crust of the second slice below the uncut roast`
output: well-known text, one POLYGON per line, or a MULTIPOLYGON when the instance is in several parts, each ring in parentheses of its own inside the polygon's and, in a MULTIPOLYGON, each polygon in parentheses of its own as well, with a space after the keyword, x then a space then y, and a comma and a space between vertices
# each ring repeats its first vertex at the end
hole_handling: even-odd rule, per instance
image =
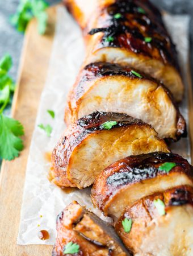
MULTIPOLYGON (((94 112, 78 119, 74 125, 69 126, 62 135, 60 141, 52 152, 52 170, 51 176, 54 183, 60 187, 76 187, 72 184, 66 175, 70 157, 75 147, 81 144, 89 135, 100 133, 104 130, 102 124, 107 121, 116 121, 117 125, 111 130, 119 127, 127 127, 131 125, 149 126, 140 119, 132 118, 127 114, 94 112)), ((110 130, 110 132, 111 132, 110 130)))

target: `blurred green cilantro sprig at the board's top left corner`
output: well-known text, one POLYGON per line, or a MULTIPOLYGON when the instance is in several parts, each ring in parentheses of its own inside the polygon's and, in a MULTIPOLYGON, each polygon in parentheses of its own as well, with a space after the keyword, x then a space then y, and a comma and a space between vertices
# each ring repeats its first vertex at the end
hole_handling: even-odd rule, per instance
POLYGON ((48 3, 44 0, 20 0, 16 13, 11 16, 10 22, 19 32, 26 30, 28 22, 35 17, 39 34, 43 35, 47 27, 48 15, 45 13, 48 3))

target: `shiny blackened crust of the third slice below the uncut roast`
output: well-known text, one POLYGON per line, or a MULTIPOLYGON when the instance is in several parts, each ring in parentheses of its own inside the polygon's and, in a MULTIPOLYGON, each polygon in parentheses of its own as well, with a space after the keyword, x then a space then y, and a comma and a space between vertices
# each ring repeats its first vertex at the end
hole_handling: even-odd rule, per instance
POLYGON ((108 200, 123 187, 158 176, 172 175, 174 172, 184 173, 193 179, 192 168, 186 159, 173 153, 153 152, 128 156, 111 164, 99 174, 94 182, 91 197, 94 205, 104 212, 108 200), (160 171, 160 165, 165 162, 173 162, 177 166, 169 173, 160 171))

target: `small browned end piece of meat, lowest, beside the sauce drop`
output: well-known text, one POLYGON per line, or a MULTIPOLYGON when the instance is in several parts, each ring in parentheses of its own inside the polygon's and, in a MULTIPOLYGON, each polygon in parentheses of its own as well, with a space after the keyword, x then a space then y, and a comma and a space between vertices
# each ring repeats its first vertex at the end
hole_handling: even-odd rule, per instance
POLYGON ((112 226, 76 201, 69 204, 57 217, 57 238, 52 256, 65 255, 65 246, 70 242, 78 245, 78 252, 73 254, 77 256, 129 255, 112 226))

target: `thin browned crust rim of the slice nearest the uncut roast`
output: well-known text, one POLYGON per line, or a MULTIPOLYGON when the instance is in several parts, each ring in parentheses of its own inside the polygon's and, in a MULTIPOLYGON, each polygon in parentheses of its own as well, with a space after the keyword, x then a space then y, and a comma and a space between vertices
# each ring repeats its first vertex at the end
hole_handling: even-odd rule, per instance
POLYGON ((179 112, 179 108, 175 103, 174 98, 171 95, 170 91, 161 82, 157 81, 156 79, 153 79, 145 73, 138 71, 137 69, 135 69, 135 71, 137 73, 140 73, 142 77, 135 76, 131 72, 132 70, 133 68, 122 67, 119 64, 112 64, 106 62, 91 63, 87 65, 85 68, 83 68, 81 72, 79 72, 77 80, 68 96, 68 104, 65 109, 65 121, 67 125, 70 125, 72 121, 73 112, 75 111, 75 109, 78 108, 78 105, 81 101, 81 97, 90 89, 90 86, 92 85, 91 81, 96 80, 98 77, 100 78, 107 76, 126 76, 131 80, 140 79, 153 81, 165 90, 165 92, 167 93, 171 100, 171 103, 175 106, 175 109, 177 111, 177 131, 175 134, 175 138, 168 139, 178 141, 178 139, 180 139, 181 137, 186 137, 186 121, 184 120, 182 114, 179 112))

